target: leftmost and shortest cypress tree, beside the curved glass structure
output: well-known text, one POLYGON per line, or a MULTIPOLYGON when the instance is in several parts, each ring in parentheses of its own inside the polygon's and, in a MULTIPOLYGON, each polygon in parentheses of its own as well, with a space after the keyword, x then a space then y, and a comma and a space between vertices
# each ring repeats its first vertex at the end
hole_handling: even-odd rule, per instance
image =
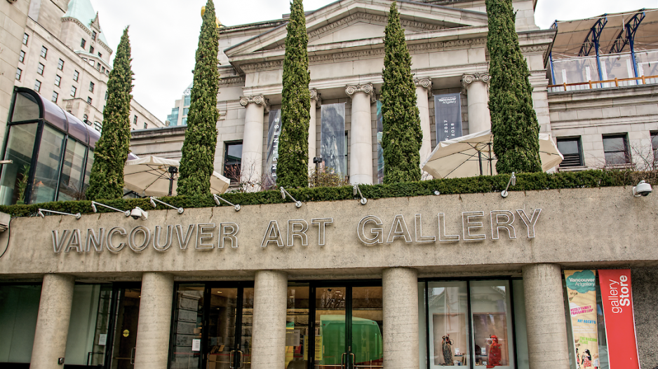
POLYGON ((91 167, 88 200, 119 199, 123 196, 123 167, 130 149, 130 100, 133 71, 130 69, 128 27, 116 48, 107 81, 107 103, 103 109, 103 130, 96 143, 91 167))

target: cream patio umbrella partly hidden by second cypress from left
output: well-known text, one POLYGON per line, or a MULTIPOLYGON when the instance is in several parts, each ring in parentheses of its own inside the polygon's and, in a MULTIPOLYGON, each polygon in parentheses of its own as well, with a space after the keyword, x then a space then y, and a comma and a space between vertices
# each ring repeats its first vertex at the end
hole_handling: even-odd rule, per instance
MULTIPOLYGON (((123 186, 144 196, 176 195, 179 166, 178 160, 157 156, 126 160, 126 166, 123 167, 123 186)), ((210 176, 210 192, 224 193, 230 183, 222 174, 213 172, 210 176)))

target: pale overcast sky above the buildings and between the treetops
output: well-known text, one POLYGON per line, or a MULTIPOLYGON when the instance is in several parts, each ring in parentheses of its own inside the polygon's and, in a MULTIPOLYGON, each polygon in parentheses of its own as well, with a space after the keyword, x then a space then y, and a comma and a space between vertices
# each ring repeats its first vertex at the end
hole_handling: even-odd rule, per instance
MULTIPOLYGON (((206 0, 90 0, 98 11, 109 47, 116 51, 123 28, 130 26, 135 88, 133 96, 163 122, 174 101, 192 83, 194 53, 206 0)), ((335 0, 304 0, 313 11, 335 0)), ((555 20, 603 13, 658 8, 658 0, 539 0, 535 20, 542 29, 555 20)), ((290 13, 288 0, 215 0, 226 26, 280 19, 290 13)))

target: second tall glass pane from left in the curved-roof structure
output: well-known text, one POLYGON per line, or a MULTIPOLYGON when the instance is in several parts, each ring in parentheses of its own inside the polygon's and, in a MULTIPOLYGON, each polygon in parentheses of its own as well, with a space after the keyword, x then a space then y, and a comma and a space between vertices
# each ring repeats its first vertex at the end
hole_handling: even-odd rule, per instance
POLYGON ((49 125, 44 125, 34 170, 30 204, 55 201, 63 146, 64 134, 49 125))

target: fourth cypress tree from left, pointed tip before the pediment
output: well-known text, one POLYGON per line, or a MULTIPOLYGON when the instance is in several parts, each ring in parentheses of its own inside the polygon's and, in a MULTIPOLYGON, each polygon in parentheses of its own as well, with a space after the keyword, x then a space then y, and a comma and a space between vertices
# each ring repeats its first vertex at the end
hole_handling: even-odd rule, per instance
POLYGON ((382 149, 384 183, 420 180, 422 130, 416 106, 416 87, 411 74, 411 55, 395 1, 384 30, 382 71, 382 149))

